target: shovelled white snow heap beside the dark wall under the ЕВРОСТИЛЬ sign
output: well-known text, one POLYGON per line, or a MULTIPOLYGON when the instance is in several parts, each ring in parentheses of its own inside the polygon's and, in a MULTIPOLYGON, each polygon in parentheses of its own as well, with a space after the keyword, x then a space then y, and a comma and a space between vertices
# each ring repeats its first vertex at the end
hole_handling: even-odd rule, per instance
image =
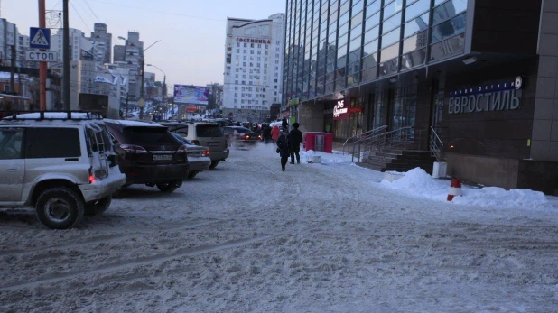
MULTIPOLYGON (((405 194, 420 198, 430 198, 447 201, 450 181, 436 180, 421 168, 415 168, 403 173, 403 177, 392 182, 382 180, 382 184, 389 189, 396 189, 405 194)), ((453 198, 452 203, 475 207, 504 207, 526 209, 548 209, 552 204, 544 193, 528 189, 506 190, 499 187, 485 187, 482 189, 462 186, 462 196, 453 198)))

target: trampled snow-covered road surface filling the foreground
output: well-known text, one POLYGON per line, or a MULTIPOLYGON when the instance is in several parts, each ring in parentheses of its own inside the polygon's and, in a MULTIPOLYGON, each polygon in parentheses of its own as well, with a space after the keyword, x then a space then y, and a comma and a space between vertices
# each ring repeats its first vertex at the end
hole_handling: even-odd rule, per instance
POLYGON ((558 210, 410 198, 348 163, 282 172, 265 148, 70 231, 0 213, 0 311, 558 311, 558 210))

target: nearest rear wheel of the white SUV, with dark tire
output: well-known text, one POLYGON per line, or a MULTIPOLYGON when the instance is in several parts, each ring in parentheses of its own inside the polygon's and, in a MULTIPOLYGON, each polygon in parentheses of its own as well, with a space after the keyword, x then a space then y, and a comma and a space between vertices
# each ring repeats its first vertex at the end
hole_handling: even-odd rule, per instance
POLYGON ((76 191, 59 187, 42 191, 35 209, 37 218, 44 226, 67 229, 79 225, 85 212, 85 204, 76 191))

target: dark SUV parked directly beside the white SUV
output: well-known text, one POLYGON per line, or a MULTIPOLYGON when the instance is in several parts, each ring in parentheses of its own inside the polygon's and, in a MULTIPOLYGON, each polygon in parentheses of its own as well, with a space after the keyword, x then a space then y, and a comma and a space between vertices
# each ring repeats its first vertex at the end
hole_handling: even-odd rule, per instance
POLYGON ((188 179, 187 148, 167 127, 126 120, 105 120, 105 124, 115 143, 120 171, 126 174, 125 186, 145 184, 172 192, 188 179))

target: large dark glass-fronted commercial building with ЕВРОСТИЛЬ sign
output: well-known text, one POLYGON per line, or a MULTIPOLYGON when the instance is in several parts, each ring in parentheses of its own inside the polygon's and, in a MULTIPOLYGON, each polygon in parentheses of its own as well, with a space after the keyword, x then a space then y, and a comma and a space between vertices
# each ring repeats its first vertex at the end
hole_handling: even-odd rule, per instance
POLYGON ((284 110, 344 141, 386 125, 447 173, 558 189, 558 1, 287 0, 284 110))

